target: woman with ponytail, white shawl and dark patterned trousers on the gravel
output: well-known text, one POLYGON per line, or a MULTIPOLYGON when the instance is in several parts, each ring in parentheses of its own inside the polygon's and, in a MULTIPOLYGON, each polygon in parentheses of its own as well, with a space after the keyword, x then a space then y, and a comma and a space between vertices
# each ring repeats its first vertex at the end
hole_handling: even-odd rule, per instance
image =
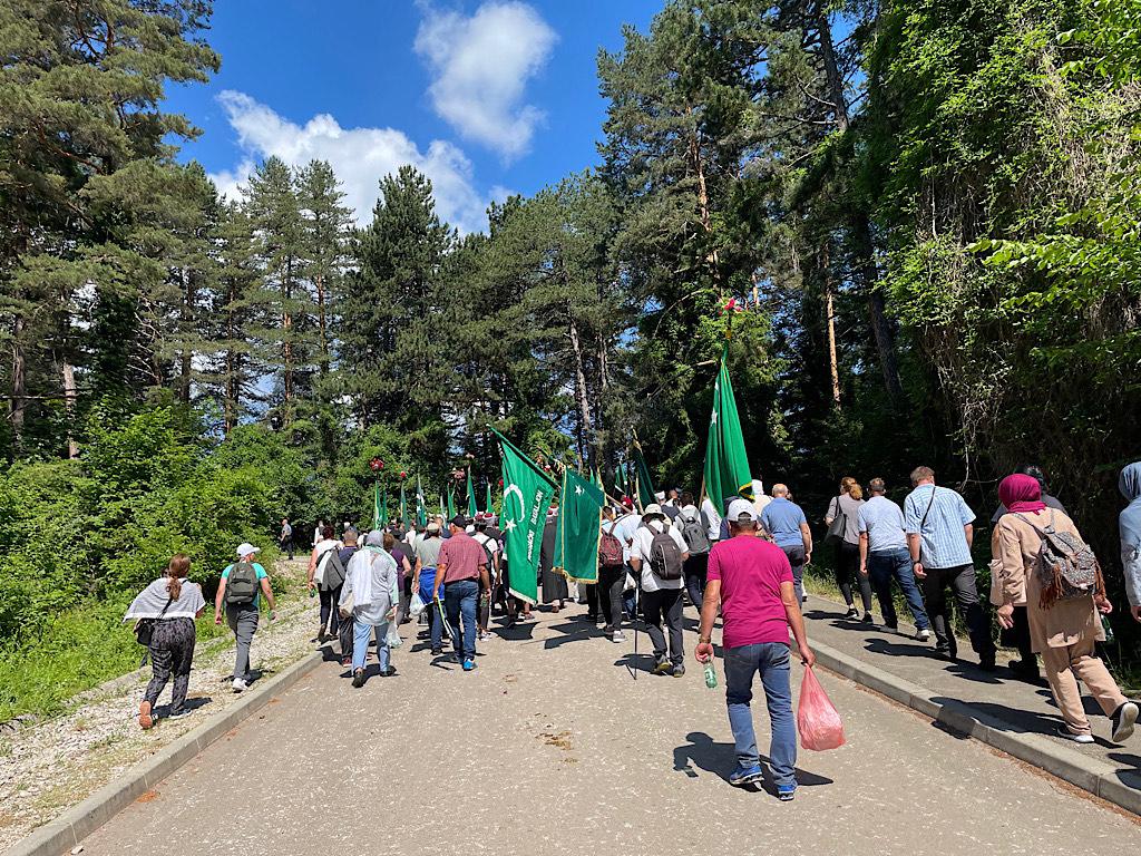
POLYGON ((143 728, 154 726, 157 719, 154 705, 171 677, 175 679, 170 700, 171 718, 189 712, 186 710, 186 691, 191 684, 191 663, 194 661, 194 620, 207 606, 202 589, 196 583, 186 581, 189 568, 191 560, 186 556, 175 556, 167 573, 135 598, 124 617, 124 621, 135 619, 153 622, 151 644, 147 646, 152 678, 139 704, 139 726, 143 728))

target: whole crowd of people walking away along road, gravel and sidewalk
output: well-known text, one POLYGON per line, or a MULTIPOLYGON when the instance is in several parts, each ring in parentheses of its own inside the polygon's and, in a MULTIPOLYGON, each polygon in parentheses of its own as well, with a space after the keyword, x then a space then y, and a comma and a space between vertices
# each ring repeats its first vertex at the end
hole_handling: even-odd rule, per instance
MULTIPOLYGON (((801 614, 807 600, 803 574, 814 555, 808 516, 787 485, 769 495, 753 482, 750 490, 718 509, 709 498, 696 503, 682 491, 659 493, 656 502, 634 510, 629 498, 602 509, 597 583, 569 583, 553 565, 558 507, 551 506, 543 530, 535 584, 540 601, 552 612, 577 599, 584 617, 601 625, 607 639, 626 641, 626 629, 645 628, 656 675, 685 675, 683 609, 699 612, 695 655, 713 656, 712 631, 722 623, 722 651, 729 722, 736 742, 737 769, 730 783, 761 778, 753 733, 753 679, 760 679, 771 719, 769 759, 777 793, 792 799, 796 734, 790 685, 791 645, 807 665, 815 656, 801 614), (792 639, 790 639, 790 632, 792 639)), ((1078 680, 1111 722, 1111 738, 1130 737, 1138 705, 1118 688, 1097 655, 1104 639, 1102 616, 1112 606, 1092 550, 1036 467, 1022 467, 1002 481, 1001 504, 990 518, 989 604, 980 598, 971 550, 974 512, 956 491, 938 485, 928 467, 911 476, 903 504, 888 499, 881 478, 859 483, 845 477, 824 509, 824 547, 833 552, 835 583, 844 617, 900 632, 893 584, 906 604, 914 638, 934 637, 933 656, 957 660, 953 609, 957 608, 971 648, 984 671, 996 669, 990 608, 1004 645, 1017 648, 1010 663, 1022 680, 1045 683, 1061 712, 1060 736, 1093 741, 1078 680), (859 595, 859 606, 856 596, 859 595), (876 622, 876 604, 881 621, 876 622), (1039 669, 1038 659, 1042 667, 1039 669)), ((1132 615, 1141 621, 1141 462, 1125 467, 1119 488, 1127 506, 1119 518, 1122 566, 1132 615)), ((281 548, 292 555, 293 528, 282 522, 281 548)), ((265 568, 249 543, 236 550, 215 598, 215 621, 226 617, 237 649, 229 680, 235 692, 252 679, 250 646, 265 598, 274 619, 274 595, 265 568)), ((155 721, 154 705, 173 677, 172 717, 186 712, 186 689, 194 652, 194 620, 204 611, 201 588, 187 580, 189 560, 176 556, 163 576, 131 604, 147 644, 154 677, 139 709, 139 724, 155 721)), ((477 668, 478 643, 492 637, 492 619, 502 627, 531 621, 537 605, 512 592, 510 556, 503 533, 489 512, 475 518, 437 516, 423 526, 394 525, 363 538, 345 524, 318 523, 308 563, 308 584, 319 595, 315 640, 338 643, 341 663, 354 687, 366 683, 369 648, 375 640, 378 675, 396 676, 393 651, 402 624, 415 623, 434 659, 477 668), (363 544, 361 543, 363 541, 363 544), (445 647, 451 653, 445 653, 445 647)), ((516 582, 519 582, 518 580, 516 582)))

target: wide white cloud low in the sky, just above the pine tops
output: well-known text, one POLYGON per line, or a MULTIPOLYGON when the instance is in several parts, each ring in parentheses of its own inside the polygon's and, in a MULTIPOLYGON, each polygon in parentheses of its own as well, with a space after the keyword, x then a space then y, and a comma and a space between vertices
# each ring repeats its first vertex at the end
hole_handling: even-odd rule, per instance
POLYGON ((311 160, 329 161, 362 225, 372 218, 379 195, 378 181, 402 165, 412 164, 431 179, 436 210, 461 232, 486 229, 488 197, 474 186, 471 161, 443 140, 434 140, 427 152, 394 128, 341 128, 333 116, 322 113, 305 126, 278 115, 244 92, 226 90, 218 100, 245 152, 233 169, 211 175, 222 193, 234 196, 249 178, 257 160, 274 156, 300 167, 311 160))

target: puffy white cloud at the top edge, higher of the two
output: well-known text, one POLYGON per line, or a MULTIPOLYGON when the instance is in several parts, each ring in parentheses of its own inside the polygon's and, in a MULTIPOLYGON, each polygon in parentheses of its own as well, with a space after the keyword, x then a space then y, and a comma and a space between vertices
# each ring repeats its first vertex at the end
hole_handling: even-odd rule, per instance
POLYGON ((558 35, 517 0, 487 0, 471 17, 422 7, 415 49, 434 78, 428 91, 436 112, 504 160, 526 152, 545 114, 520 104, 524 89, 545 65, 558 35))

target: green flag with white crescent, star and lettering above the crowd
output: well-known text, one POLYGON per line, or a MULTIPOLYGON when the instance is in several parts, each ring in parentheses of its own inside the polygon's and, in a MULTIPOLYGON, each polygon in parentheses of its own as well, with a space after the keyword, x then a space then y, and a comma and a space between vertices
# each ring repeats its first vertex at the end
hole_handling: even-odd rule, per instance
POLYGON ((509 590, 520 600, 536 603, 539 554, 543 543, 547 508, 555 483, 539 465, 492 429, 503 458, 503 508, 501 520, 508 559, 509 590))

